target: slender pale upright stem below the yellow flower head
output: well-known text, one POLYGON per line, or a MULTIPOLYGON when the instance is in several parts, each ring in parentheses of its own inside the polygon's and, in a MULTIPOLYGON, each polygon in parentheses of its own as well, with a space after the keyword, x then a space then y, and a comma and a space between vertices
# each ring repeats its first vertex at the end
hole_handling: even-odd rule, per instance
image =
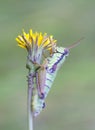
POLYGON ((28 75, 28 129, 33 130, 33 114, 31 109, 31 100, 33 93, 33 74, 29 73, 28 75))

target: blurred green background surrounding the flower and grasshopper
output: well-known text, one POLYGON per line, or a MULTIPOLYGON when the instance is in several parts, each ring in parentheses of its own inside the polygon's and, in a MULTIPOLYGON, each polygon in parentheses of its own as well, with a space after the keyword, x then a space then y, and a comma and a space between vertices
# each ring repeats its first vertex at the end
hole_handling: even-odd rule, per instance
POLYGON ((95 130, 95 1, 0 0, 0 130, 27 130, 27 52, 15 38, 30 28, 72 49, 34 120, 34 130, 95 130))

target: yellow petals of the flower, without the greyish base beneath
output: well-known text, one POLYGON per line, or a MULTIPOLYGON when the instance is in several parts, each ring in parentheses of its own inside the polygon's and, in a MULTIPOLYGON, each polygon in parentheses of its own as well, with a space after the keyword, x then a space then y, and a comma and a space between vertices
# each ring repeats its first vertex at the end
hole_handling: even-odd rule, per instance
POLYGON ((23 30, 23 35, 18 35, 16 41, 18 46, 28 51, 33 51, 34 48, 43 48, 52 53, 56 46, 56 40, 53 39, 53 36, 48 36, 47 33, 42 34, 41 32, 33 33, 32 29, 30 29, 29 33, 25 33, 23 30))

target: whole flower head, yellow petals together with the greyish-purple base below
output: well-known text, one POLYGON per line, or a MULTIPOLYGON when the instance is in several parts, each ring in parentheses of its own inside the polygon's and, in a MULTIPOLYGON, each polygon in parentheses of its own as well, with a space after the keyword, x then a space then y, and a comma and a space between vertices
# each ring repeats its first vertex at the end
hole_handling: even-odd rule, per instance
POLYGON ((29 33, 25 33, 23 30, 22 35, 18 35, 16 38, 18 46, 27 49, 28 56, 33 63, 41 63, 42 55, 45 57, 46 51, 49 55, 53 54, 56 48, 56 40, 53 36, 48 36, 47 33, 34 32, 30 29, 29 33))

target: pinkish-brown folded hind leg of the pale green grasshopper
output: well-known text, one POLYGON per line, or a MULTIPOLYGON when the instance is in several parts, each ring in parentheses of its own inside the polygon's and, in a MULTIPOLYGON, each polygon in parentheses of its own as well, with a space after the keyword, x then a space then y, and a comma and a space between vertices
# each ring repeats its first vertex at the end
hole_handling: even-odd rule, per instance
POLYGON ((38 90, 38 95, 41 99, 45 98, 44 88, 45 88, 45 81, 46 81, 47 64, 48 64, 48 61, 47 59, 45 59, 43 64, 40 65, 40 69, 36 73, 37 90, 38 90))

